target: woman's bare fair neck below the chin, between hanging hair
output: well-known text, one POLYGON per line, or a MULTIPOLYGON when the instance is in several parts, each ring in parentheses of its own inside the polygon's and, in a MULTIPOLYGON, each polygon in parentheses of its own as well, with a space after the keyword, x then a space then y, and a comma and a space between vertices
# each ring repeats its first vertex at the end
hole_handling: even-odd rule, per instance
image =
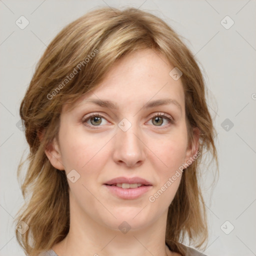
MULTIPOLYGON (((74 209, 71 205, 70 209, 69 232, 61 242, 52 246, 59 256, 174 255, 165 244, 167 211, 154 222, 136 229, 132 228, 132 225, 138 226, 135 218, 128 220, 126 223, 132 223, 130 229, 126 224, 126 228, 129 230, 125 232, 125 229, 122 229, 124 231, 122 232, 118 228, 113 229, 94 221, 84 211, 74 209)), ((141 219, 137 219, 141 221, 141 219)), ((113 221, 116 220, 113 219, 113 221)), ((125 227, 125 222, 123 226, 125 227)))

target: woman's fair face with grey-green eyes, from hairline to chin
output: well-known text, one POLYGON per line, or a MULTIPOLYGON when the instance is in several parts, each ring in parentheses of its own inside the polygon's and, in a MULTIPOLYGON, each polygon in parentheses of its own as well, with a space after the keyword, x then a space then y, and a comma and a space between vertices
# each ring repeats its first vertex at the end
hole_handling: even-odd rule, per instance
POLYGON ((188 147, 181 79, 172 79, 167 63, 151 49, 126 55, 71 110, 63 106, 57 151, 47 156, 75 181, 67 179, 70 205, 80 216, 112 229, 122 221, 139 229, 167 213, 182 171, 175 173, 197 151, 188 147), (169 102, 148 105, 162 99, 169 102), (138 177, 150 185, 106 185, 117 177, 138 177))

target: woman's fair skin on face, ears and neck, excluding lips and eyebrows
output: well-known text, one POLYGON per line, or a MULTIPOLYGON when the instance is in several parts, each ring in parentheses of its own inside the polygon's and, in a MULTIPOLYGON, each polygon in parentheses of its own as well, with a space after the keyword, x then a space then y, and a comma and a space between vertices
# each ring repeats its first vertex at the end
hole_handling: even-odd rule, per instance
POLYGON ((66 174, 75 169, 80 177, 74 183, 67 179, 70 229, 52 247, 59 256, 180 255, 165 245, 165 227, 182 172, 154 202, 148 200, 198 150, 197 128, 188 147, 184 92, 181 79, 170 77, 172 68, 151 49, 130 53, 74 108, 63 106, 58 138, 45 153, 55 168, 66 174), (84 103, 88 98, 114 101, 119 109, 84 103), (142 108, 161 98, 175 99, 181 109, 174 104, 142 108), (101 123, 93 118, 87 119, 89 126, 82 123, 89 113, 102 115, 101 123), (157 125, 152 118, 157 113, 171 116, 175 123, 160 117, 157 125), (118 127, 123 118, 131 123, 127 131, 118 127), (103 185, 118 176, 139 176, 152 186, 136 199, 121 199, 103 185), (131 227, 127 233, 118 229, 123 221, 131 227))

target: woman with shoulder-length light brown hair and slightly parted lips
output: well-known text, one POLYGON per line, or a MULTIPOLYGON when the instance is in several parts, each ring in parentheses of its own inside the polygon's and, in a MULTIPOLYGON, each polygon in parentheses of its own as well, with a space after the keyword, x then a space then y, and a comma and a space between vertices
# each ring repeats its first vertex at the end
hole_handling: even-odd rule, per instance
POLYGON ((217 156, 204 94, 189 49, 150 13, 103 7, 62 29, 20 105, 25 253, 204 255, 182 244, 207 240, 198 163, 217 156))

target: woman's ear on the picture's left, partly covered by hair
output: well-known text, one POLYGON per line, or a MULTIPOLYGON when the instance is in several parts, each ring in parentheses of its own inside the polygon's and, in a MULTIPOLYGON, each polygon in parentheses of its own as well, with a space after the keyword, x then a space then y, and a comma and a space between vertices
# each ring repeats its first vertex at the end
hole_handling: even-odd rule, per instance
MULTIPOLYGON (((43 138, 44 131, 45 130, 37 132, 40 141, 43 138)), ((53 167, 55 167, 56 169, 59 169, 59 170, 64 170, 64 165, 62 164, 62 158, 61 158, 61 153, 60 153, 60 150, 59 150, 59 145, 58 145, 57 140, 56 140, 55 137, 48 144, 48 146, 44 150, 44 152, 45 152, 47 158, 49 159, 49 161, 50 161, 50 163, 53 167)))

